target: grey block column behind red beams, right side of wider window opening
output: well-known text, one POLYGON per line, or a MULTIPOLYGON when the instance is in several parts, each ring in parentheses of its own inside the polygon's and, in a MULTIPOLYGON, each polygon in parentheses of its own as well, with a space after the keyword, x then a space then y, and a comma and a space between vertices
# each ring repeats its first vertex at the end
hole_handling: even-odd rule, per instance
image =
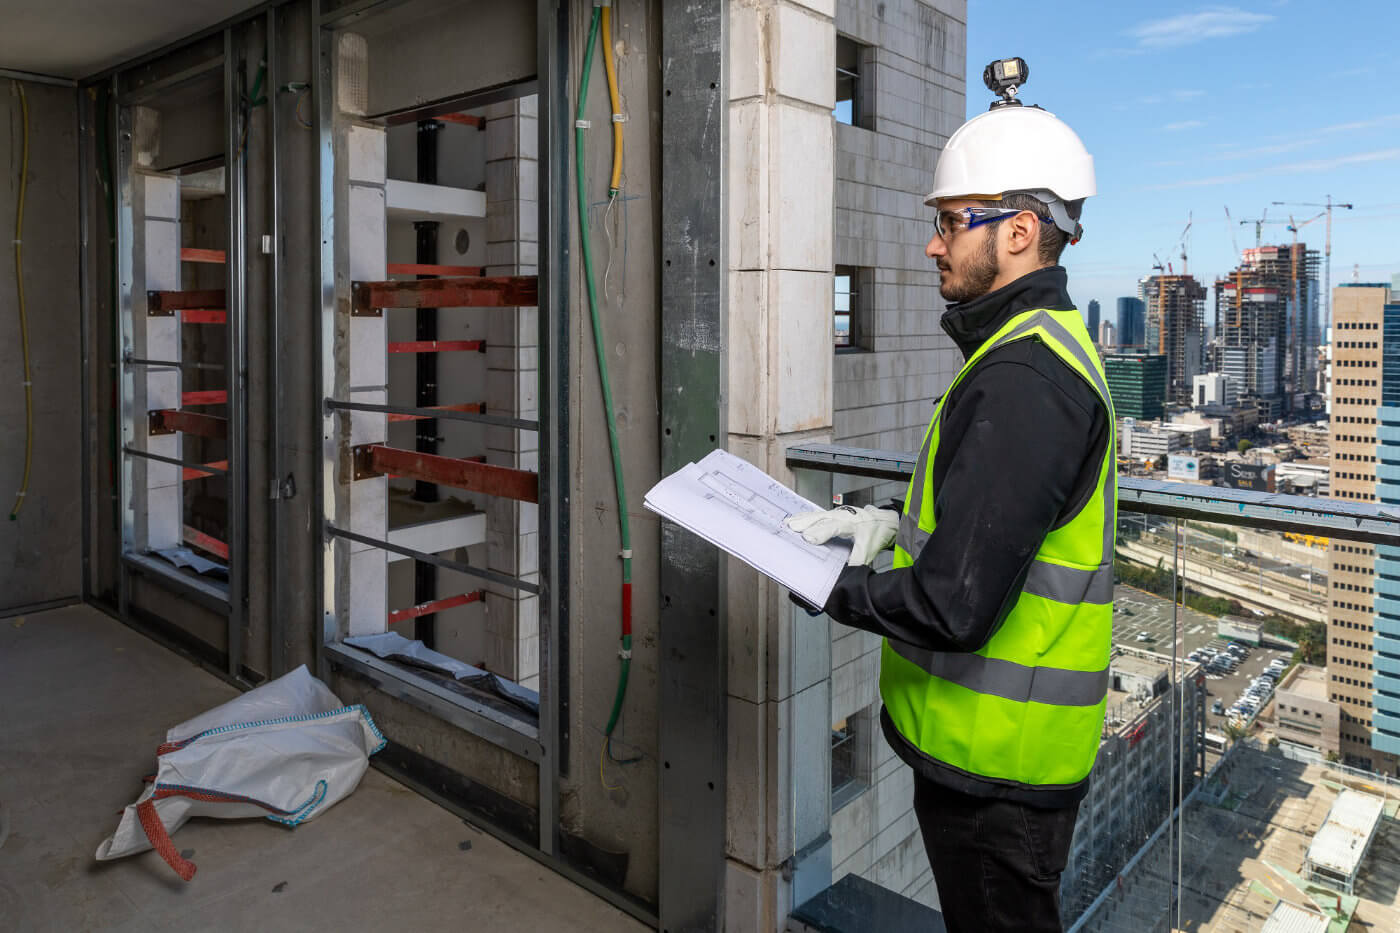
MULTIPOLYGON (((535 97, 486 112, 486 275, 532 276, 539 270, 539 158, 535 97)), ((486 340, 486 410, 539 417, 539 310, 491 312, 486 340)), ((539 469, 539 434, 489 427, 486 461, 539 469)), ((539 583, 539 511, 531 503, 487 499, 487 566, 539 583)), ((539 686, 539 597, 489 584, 487 667, 524 686, 539 686)))

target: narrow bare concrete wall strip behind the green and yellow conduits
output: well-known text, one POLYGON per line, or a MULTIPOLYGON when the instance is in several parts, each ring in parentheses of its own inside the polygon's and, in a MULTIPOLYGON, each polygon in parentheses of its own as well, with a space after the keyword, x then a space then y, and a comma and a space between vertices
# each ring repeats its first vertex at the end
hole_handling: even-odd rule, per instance
MULTIPOLYGON (((570 15, 570 116, 577 102, 582 46, 592 8, 570 15)), ((659 255, 659 49, 661 4, 624 0, 613 4, 613 55, 622 111, 623 188, 609 210, 612 122, 603 76, 602 42, 589 78, 584 175, 589 237, 610 384, 627 483, 633 559, 631 679, 613 733, 613 755, 640 758, 617 765, 603 755, 603 727, 617 685, 622 646, 622 560, 617 504, 608 450, 598 363, 582 265, 577 249, 577 192, 570 156, 567 170, 570 238, 568 405, 571 538, 568 598, 568 776, 560 813, 566 828, 589 841, 629 853, 629 891, 657 898, 657 696, 658 696, 658 553, 659 521, 643 509, 643 495, 659 479, 657 301, 659 255), (612 241, 609 242, 609 235, 612 241), (602 758, 602 761, 601 761, 602 758)), ((573 119, 570 119, 570 125, 573 119)), ((568 132, 573 150, 573 132, 568 132)), ((699 403, 711 403, 701 399, 699 403)))

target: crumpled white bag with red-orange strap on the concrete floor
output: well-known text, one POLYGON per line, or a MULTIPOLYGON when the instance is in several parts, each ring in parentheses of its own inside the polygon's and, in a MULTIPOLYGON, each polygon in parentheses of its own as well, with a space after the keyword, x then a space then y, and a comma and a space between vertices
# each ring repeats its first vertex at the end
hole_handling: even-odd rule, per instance
POLYGON ((189 881, 195 864, 169 839, 186 820, 266 817, 295 827, 349 796, 385 744, 364 706, 343 705, 298 667, 167 731, 154 780, 97 857, 154 848, 189 881))

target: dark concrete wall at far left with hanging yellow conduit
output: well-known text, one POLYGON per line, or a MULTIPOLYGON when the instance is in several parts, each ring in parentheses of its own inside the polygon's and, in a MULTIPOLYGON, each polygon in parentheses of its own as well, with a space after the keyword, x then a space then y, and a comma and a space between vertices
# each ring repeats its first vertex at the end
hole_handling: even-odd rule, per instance
POLYGON ((83 499, 78 342, 77 92, 24 84, 29 168, 24 290, 29 324, 34 452, 29 490, 7 521, 24 475, 25 405, 15 291, 15 207, 22 161, 20 97, 0 81, 0 612, 81 591, 83 499))

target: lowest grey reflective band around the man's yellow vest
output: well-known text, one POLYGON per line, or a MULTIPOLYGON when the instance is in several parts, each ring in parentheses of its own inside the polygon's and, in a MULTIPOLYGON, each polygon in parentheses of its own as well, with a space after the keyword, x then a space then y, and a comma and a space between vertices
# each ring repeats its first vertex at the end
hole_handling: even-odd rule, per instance
POLYGON ((918 649, 889 639, 895 653, 939 679, 977 693, 1018 703, 1049 706, 1098 706, 1109 692, 1109 668, 1068 671, 1060 667, 1026 667, 981 654, 951 654, 918 649))

